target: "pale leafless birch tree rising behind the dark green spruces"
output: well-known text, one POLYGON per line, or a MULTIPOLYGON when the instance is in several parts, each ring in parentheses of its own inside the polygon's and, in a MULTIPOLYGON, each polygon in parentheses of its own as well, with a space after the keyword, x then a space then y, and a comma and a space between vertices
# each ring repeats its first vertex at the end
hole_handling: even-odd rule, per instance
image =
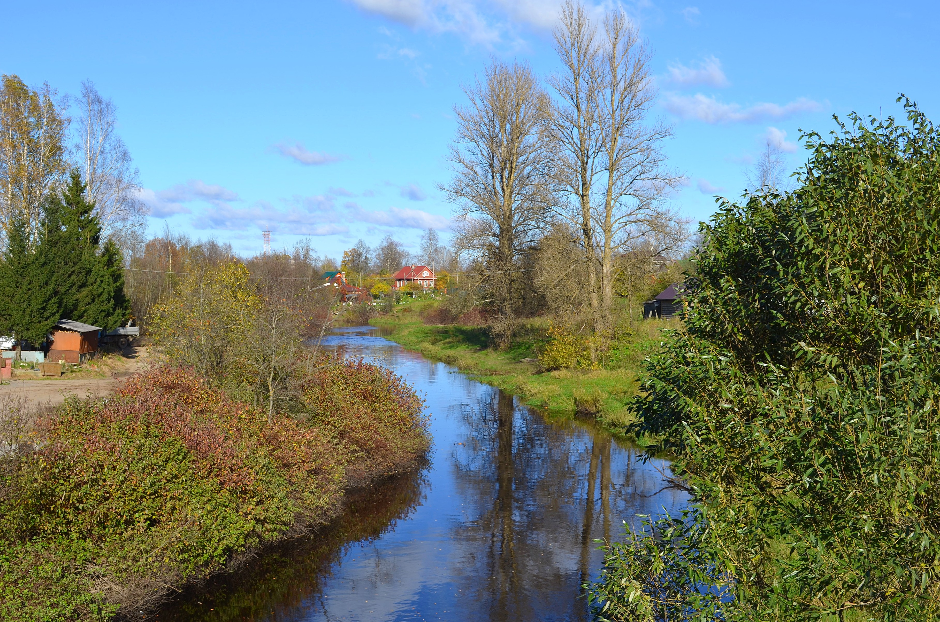
POLYGON ((90 81, 82 83, 77 102, 81 114, 76 150, 88 200, 95 204, 95 214, 102 225, 102 236, 139 228, 147 213, 137 197, 140 174, 115 132, 118 117, 114 102, 102 98, 90 81))

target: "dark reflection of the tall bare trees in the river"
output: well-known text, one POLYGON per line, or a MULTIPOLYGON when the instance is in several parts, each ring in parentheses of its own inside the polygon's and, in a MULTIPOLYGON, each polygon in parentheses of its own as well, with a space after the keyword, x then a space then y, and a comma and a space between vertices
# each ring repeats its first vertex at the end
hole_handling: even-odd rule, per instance
POLYGON ((455 581, 473 598, 462 603, 464 614, 588 619, 577 597, 600 569, 594 540, 619 537, 620 520, 638 523, 636 514, 672 509, 684 497, 637 494, 659 490, 661 474, 649 464, 634 468, 639 453, 589 422, 550 419, 496 390, 461 414, 469 432, 454 451, 455 479, 464 514, 477 506, 477 518, 452 537, 462 549, 455 581))

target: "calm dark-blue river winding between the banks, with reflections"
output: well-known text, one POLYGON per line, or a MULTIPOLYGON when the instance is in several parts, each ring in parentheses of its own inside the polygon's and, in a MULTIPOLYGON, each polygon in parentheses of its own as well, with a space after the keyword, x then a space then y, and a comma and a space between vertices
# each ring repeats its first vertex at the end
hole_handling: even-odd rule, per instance
POLYGON ((372 327, 324 345, 393 369, 427 398, 428 463, 350 499, 343 516, 184 593, 162 620, 587 620, 596 538, 678 510, 664 460, 403 350, 372 327))

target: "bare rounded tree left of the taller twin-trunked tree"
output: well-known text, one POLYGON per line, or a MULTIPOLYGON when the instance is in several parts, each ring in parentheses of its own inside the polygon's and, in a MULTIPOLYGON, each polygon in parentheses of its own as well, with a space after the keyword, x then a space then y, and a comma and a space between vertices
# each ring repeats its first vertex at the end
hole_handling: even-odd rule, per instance
POLYGON ((512 337, 517 257, 531 243, 548 205, 550 162, 544 132, 547 98, 527 64, 493 60, 454 109, 457 138, 449 160, 454 178, 442 186, 458 207, 457 243, 486 261, 498 347, 512 337))

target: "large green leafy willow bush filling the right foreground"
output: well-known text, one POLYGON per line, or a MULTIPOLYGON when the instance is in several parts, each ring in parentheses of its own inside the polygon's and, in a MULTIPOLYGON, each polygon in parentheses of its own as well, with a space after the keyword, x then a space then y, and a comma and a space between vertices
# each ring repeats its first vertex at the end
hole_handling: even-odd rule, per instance
POLYGON ((695 491, 725 619, 940 614, 940 135, 906 110, 808 134, 794 193, 722 203, 646 366, 635 432, 695 491))

